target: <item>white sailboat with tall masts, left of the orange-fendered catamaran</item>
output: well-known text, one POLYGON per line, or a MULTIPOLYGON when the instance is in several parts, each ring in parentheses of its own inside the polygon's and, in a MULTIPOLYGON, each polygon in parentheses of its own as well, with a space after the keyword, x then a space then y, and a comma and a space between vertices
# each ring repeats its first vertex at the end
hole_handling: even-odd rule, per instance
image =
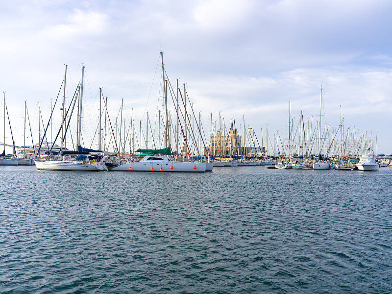
MULTIPOLYGON (((77 136, 77 146, 80 147, 80 131, 81 131, 81 122, 82 122, 82 103, 83 103, 83 75, 84 75, 84 65, 82 65, 82 78, 81 84, 78 86, 78 94, 79 94, 79 105, 78 105, 78 136, 77 136)), ((64 143, 64 122, 66 118, 65 114, 65 90, 66 90, 66 79, 67 79, 67 65, 65 65, 65 75, 64 75, 64 95, 63 95, 63 104, 62 104, 62 120, 61 120, 61 147, 60 147, 60 155, 64 158, 64 155, 69 154, 86 154, 88 152, 79 152, 79 151, 63 151, 63 143, 64 143)), ((75 92, 76 94, 76 92, 75 92)), ((54 109, 54 108, 53 108, 54 109)), ((53 114, 52 109, 52 114, 53 114)), ((49 125, 49 124, 48 124, 49 125)), ((47 127, 48 129, 48 127, 47 127)), ((68 126, 67 126, 68 129, 68 126)), ((46 133, 46 131, 45 131, 46 133)), ((45 136, 45 134, 44 134, 45 136)), ((44 138, 42 138, 42 142, 44 138)), ((41 146, 40 146, 41 147, 41 146)), ((39 149, 38 149, 39 152, 39 149)), ((49 156, 49 155, 48 155, 49 156)), ((40 171, 99 171, 100 169, 93 165, 93 163, 89 160, 89 157, 86 156, 83 160, 35 160, 35 166, 37 170, 40 171)))

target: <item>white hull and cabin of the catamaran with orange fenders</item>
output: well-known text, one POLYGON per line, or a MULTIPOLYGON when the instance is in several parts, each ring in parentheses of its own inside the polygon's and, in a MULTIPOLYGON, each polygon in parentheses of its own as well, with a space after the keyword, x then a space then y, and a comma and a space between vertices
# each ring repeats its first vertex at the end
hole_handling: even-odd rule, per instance
POLYGON ((205 172, 207 164, 204 162, 175 161, 162 155, 147 155, 140 161, 127 161, 112 169, 126 172, 205 172))

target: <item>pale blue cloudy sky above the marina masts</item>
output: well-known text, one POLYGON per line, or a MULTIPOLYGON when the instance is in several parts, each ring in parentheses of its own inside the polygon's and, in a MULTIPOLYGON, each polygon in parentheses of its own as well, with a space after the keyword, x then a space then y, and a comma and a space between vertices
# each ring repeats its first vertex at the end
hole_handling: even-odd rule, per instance
MULTIPOLYGON (((211 113, 217 120, 221 112, 237 127, 245 115, 259 137, 267 123, 270 134, 287 136, 289 101, 296 123, 301 110, 317 120, 322 86, 323 122, 337 128, 342 109, 345 127, 373 140, 377 133, 378 153, 391 154, 391 15, 392 2, 383 0, 0 0, 0 91, 16 145, 23 144, 25 101, 36 143, 38 102, 46 124, 64 64, 68 103, 84 64, 89 147, 99 87, 113 119, 123 98, 126 124, 133 108, 135 123, 148 111, 156 129, 162 50, 171 82, 186 83, 206 132, 211 113)), ((60 105, 53 120, 55 133, 60 105)), ((8 122, 6 137, 10 144, 8 122)))

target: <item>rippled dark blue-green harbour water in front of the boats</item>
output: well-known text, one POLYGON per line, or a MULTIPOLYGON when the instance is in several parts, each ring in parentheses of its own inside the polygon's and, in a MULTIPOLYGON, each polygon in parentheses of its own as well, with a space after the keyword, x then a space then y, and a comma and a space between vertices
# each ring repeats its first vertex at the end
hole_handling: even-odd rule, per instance
POLYGON ((0 292, 392 293, 392 169, 0 166, 0 292))

